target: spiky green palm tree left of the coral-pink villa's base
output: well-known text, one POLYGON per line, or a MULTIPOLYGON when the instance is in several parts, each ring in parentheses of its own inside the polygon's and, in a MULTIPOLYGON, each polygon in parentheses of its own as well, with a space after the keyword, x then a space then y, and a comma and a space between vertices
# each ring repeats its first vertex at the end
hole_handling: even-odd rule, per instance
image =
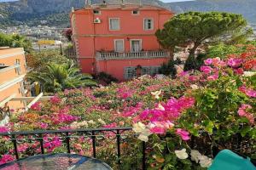
POLYGON ((32 82, 40 82, 43 92, 56 93, 66 88, 96 86, 90 75, 81 74, 73 62, 57 65, 50 63, 44 71, 32 71, 27 74, 32 82))

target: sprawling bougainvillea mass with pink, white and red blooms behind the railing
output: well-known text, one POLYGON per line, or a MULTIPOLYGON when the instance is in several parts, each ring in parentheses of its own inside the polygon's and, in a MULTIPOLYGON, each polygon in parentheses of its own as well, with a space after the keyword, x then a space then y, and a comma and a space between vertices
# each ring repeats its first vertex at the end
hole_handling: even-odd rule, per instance
MULTIPOLYGON (((13 113, 0 132, 133 127, 138 139, 128 135, 123 140, 122 169, 141 167, 140 140, 146 142, 148 169, 207 169, 223 149, 255 158, 256 48, 243 48, 241 54, 206 59, 200 71, 182 72, 176 79, 143 76, 108 87, 65 90, 26 113, 13 113)), ((91 154, 90 138, 71 142, 72 152, 91 154)), ((97 158, 118 168, 114 144, 97 142, 97 158)), ((0 145, 0 162, 13 160, 7 138, 0 145)), ((44 149, 66 151, 53 134, 44 136, 44 149)), ((39 142, 19 144, 18 150, 21 156, 39 153, 39 142)))

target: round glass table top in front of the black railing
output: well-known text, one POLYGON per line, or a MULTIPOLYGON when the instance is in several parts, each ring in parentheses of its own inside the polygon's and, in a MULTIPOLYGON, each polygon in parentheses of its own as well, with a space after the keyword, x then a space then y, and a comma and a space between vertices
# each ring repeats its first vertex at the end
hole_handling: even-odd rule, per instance
POLYGON ((0 166, 3 170, 111 170, 106 163, 75 154, 38 155, 12 161, 0 166))

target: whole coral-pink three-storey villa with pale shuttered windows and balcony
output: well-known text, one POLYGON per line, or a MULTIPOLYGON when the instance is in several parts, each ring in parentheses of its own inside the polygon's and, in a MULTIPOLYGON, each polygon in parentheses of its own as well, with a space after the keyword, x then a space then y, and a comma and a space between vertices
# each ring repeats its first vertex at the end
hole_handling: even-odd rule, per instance
POLYGON ((73 42, 81 70, 106 72, 120 81, 154 75, 170 59, 154 32, 172 11, 141 4, 87 4, 73 10, 73 42))

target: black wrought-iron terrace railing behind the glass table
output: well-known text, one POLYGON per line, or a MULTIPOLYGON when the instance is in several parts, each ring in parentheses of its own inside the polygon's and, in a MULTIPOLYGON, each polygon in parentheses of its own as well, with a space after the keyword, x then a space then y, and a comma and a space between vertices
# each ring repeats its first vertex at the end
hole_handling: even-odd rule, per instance
MULTIPOLYGON (((121 166, 121 144, 125 141, 125 137, 135 137, 137 133, 133 133, 132 127, 113 127, 113 128, 95 128, 95 129, 78 129, 78 130, 44 130, 44 131, 28 131, 28 132, 9 132, 0 133, 0 146, 4 148, 4 144, 12 144, 16 159, 20 159, 22 155, 19 151, 19 144, 35 144, 39 143, 38 150, 40 154, 47 154, 44 148, 45 140, 50 140, 55 137, 61 139, 62 143, 66 145, 67 153, 71 153, 72 141, 80 137, 89 138, 92 148, 92 156, 96 158, 96 146, 99 146, 97 140, 112 139, 115 140, 115 150, 117 156, 117 165, 121 166), (1 142, 2 141, 2 142, 1 142), (5 142, 3 142, 5 141, 5 142)), ((140 167, 137 169, 146 169, 146 143, 141 142, 142 153, 140 167)), ((104 161, 104 160, 102 160, 104 161)))

